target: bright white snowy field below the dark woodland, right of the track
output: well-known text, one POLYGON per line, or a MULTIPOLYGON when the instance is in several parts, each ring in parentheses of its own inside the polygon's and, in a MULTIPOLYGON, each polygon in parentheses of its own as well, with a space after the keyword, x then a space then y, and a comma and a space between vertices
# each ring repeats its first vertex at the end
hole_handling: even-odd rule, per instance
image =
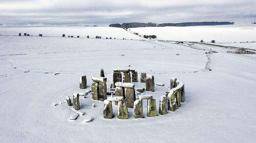
POLYGON ((256 41, 256 24, 234 24, 188 27, 141 27, 130 28, 141 35, 156 35, 161 40, 204 42, 256 41))

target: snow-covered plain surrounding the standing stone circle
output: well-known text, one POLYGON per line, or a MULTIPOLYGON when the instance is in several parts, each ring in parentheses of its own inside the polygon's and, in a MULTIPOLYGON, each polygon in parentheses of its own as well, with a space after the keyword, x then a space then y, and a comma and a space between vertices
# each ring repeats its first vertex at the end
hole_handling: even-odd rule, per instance
MULTIPOLYGON (((67 29, 72 32, 76 28, 67 29)), ((104 37, 105 32, 97 28, 104 37)), ((116 37, 141 38, 121 28, 117 33, 116 28, 105 28, 108 37, 114 37, 113 32, 116 37)), ((43 28, 34 30, 31 33, 45 32, 43 28)), ((10 35, 18 32, 11 27, 9 31, 1 27, 0 31, 13 32, 10 35)), ((56 31, 52 28, 52 33, 56 31)), ((85 35, 93 35, 90 32, 85 35)), ((256 60, 205 52, 151 40, 0 36, 0 141, 255 142, 256 60), (175 112, 147 117, 147 101, 143 101, 145 118, 134 119, 133 109, 128 108, 127 120, 117 119, 117 106, 112 103, 114 118, 104 119, 103 102, 92 100, 88 94, 86 98, 80 96, 84 115, 69 120, 77 111, 63 103, 67 95, 72 101, 73 92, 90 90, 91 76, 98 76, 101 68, 109 89, 113 69, 128 68, 128 64, 138 71, 138 77, 140 72, 147 72, 154 75, 155 83, 165 84, 155 85, 155 92, 140 94, 152 95, 157 110, 171 77, 185 83, 185 102, 175 112), (206 64, 211 71, 205 69, 206 64), (82 75, 87 76, 86 89, 79 89, 82 75), (92 122, 85 122, 91 118, 92 122)), ((135 83, 136 87, 145 84, 135 83)))

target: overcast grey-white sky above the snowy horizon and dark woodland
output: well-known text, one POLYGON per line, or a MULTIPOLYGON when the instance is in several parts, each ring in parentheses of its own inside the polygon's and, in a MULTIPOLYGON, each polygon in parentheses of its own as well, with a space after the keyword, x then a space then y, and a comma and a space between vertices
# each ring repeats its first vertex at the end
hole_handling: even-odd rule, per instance
POLYGON ((256 0, 0 0, 0 24, 256 22, 256 0))

